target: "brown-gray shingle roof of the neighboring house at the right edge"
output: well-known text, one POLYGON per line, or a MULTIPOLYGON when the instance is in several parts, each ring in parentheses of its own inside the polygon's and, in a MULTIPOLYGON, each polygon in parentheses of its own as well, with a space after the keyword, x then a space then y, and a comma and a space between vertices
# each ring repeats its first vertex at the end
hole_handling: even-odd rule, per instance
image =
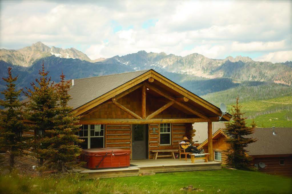
POLYGON ((292 154, 292 128, 256 128, 248 137, 258 140, 246 147, 248 155, 292 154))

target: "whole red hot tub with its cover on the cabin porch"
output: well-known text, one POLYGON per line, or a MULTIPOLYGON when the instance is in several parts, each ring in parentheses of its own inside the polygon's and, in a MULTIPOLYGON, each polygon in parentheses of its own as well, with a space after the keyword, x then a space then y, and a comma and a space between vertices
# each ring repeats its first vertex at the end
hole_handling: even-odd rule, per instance
POLYGON ((120 148, 83 149, 81 160, 87 162, 86 167, 112 168, 130 166, 130 150, 120 148))

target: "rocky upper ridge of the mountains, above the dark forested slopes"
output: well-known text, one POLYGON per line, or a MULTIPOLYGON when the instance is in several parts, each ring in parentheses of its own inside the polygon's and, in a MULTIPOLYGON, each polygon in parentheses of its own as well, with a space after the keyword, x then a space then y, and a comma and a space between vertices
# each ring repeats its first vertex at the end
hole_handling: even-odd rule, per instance
POLYGON ((188 79, 230 78, 232 81, 239 83, 242 81, 265 81, 286 85, 291 85, 292 81, 291 61, 286 63, 259 62, 243 56, 211 59, 197 53, 182 57, 174 54, 167 55, 163 52, 147 53, 146 51, 91 60, 77 49, 50 48, 42 42, 36 42, 32 46, 19 50, 0 49, 0 60, 22 67, 30 67, 37 60, 48 56, 79 59, 96 65, 126 65, 133 71, 155 69, 182 74, 188 79))

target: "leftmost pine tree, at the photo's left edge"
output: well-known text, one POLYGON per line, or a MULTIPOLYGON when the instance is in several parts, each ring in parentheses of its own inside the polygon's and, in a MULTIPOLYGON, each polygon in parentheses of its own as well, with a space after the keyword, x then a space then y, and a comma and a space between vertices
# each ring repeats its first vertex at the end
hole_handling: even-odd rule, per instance
POLYGON ((22 133, 26 126, 23 122, 23 107, 25 103, 20 102, 18 97, 22 90, 16 90, 15 81, 18 76, 12 77, 11 67, 8 67, 8 77, 2 78, 7 84, 6 90, 1 92, 4 95, 4 100, 0 99, 0 106, 4 110, 0 110, 0 147, 8 150, 9 170, 13 169, 15 156, 23 155, 23 149, 27 144, 23 143, 22 133))

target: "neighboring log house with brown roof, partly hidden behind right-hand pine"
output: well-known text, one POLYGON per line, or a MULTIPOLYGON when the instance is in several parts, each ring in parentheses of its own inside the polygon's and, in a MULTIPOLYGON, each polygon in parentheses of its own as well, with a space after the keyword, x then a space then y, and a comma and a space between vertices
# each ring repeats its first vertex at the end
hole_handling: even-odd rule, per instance
MULTIPOLYGON (((273 175, 292 176, 292 128, 256 128, 248 137, 257 138, 257 141, 246 147, 247 154, 253 157, 252 165, 261 172, 273 175), (275 135, 274 135, 275 134, 275 135)), ((228 136, 220 129, 213 134, 214 160, 226 164, 229 144, 228 136)), ((198 148, 208 152, 208 139, 198 148)))

